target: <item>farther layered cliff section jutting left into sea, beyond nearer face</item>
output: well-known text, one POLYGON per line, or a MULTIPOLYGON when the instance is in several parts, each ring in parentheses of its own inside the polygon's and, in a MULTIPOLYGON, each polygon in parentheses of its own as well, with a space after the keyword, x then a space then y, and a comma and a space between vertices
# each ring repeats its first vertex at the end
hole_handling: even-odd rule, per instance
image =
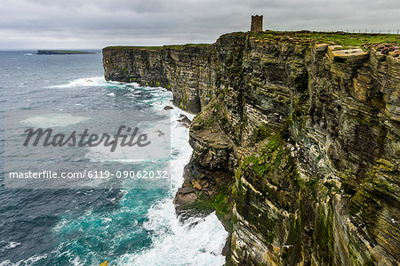
POLYGON ((208 46, 187 46, 182 50, 105 48, 105 77, 168 88, 176 106, 197 113, 210 101, 205 90, 217 82, 216 69, 212 69, 215 64, 208 61, 212 52, 208 46))

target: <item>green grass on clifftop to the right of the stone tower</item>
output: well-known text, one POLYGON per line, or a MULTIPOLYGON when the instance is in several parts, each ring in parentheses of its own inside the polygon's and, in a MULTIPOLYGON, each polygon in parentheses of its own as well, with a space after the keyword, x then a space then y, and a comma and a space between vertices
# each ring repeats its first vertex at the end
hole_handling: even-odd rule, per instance
POLYGON ((400 37, 395 34, 364 34, 344 32, 315 32, 315 31, 264 31, 251 32, 257 39, 288 39, 292 41, 309 41, 323 44, 332 43, 343 46, 362 46, 363 44, 400 44, 400 37))

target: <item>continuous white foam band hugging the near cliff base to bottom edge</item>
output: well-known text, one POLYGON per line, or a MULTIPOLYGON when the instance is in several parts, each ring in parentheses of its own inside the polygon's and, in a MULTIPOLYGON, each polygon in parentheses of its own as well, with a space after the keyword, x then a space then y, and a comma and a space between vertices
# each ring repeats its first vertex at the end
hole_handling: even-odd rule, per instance
MULTIPOLYGON (((168 102, 155 106, 161 109, 168 102)), ((170 197, 157 202, 148 210, 148 222, 144 227, 153 231, 153 245, 138 254, 124 254, 118 265, 222 265, 221 254, 228 232, 217 216, 212 213, 205 218, 190 218, 181 224, 172 203, 176 190, 183 182, 183 167, 188 163, 192 149, 188 145, 188 129, 180 127, 176 120, 180 114, 190 119, 194 116, 172 109, 172 191, 170 197), (196 225, 195 225, 196 224, 196 225)))

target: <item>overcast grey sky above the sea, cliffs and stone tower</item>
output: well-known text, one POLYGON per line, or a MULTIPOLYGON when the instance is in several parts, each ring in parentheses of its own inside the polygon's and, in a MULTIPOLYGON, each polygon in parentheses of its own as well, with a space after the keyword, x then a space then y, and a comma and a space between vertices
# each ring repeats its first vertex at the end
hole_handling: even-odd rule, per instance
POLYGON ((0 50, 213 43, 247 31, 400 28, 399 0, 0 0, 0 50))

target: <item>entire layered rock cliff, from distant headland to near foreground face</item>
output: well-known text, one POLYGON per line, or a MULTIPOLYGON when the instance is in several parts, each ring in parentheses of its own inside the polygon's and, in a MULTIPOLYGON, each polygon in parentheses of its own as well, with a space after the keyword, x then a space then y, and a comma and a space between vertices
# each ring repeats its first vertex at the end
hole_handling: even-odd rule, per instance
POLYGON ((103 55, 107 79, 170 88, 198 112, 177 197, 230 221, 228 264, 398 265, 395 53, 233 33, 103 55))

